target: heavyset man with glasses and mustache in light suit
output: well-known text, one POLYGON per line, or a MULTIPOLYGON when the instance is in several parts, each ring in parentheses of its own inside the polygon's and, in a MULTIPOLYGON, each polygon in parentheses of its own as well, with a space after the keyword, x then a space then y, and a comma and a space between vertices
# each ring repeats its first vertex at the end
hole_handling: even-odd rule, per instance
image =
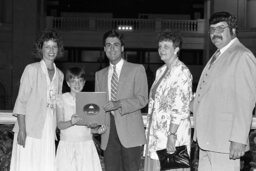
POLYGON ((256 59, 236 37, 237 19, 228 12, 210 17, 210 39, 217 50, 206 64, 191 106, 199 171, 240 171, 248 150, 256 102, 256 59))

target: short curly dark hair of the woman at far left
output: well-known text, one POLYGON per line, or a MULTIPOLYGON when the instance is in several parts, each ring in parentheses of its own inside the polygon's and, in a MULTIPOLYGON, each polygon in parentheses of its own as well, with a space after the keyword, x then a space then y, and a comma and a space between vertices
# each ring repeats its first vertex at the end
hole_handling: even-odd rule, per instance
POLYGON ((63 46, 63 41, 61 39, 61 36, 59 33, 55 30, 44 30, 41 35, 38 37, 34 44, 34 54, 38 58, 43 58, 42 54, 42 48, 44 45, 44 42, 53 40, 54 42, 57 43, 58 46, 58 54, 57 57, 62 57, 64 54, 64 46, 63 46))

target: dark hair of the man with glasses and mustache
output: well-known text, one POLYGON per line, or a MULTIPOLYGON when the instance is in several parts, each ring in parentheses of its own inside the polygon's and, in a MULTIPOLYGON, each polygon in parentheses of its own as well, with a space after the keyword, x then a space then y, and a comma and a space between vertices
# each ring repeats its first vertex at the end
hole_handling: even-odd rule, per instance
POLYGON ((232 29, 235 29, 237 33, 237 18, 234 15, 231 15, 229 12, 226 11, 216 12, 212 14, 209 19, 209 24, 212 25, 219 22, 226 22, 228 24, 228 27, 230 28, 230 31, 232 29))

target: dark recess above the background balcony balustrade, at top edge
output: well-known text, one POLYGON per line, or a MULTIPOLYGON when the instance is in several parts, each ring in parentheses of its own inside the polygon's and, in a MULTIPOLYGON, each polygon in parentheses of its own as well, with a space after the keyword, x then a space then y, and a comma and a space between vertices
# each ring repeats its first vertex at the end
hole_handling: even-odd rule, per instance
POLYGON ((49 9, 61 12, 112 13, 114 17, 138 17, 139 13, 203 13, 204 0, 47 0, 49 9))

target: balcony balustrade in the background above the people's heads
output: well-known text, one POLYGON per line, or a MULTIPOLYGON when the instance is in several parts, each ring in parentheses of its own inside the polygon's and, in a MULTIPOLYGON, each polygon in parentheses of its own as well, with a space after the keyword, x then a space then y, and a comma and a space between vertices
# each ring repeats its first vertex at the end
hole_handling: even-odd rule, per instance
POLYGON ((175 29, 181 32, 204 33, 204 20, 127 19, 47 17, 46 25, 63 31, 105 31, 119 26, 131 26, 133 32, 160 32, 175 29))

